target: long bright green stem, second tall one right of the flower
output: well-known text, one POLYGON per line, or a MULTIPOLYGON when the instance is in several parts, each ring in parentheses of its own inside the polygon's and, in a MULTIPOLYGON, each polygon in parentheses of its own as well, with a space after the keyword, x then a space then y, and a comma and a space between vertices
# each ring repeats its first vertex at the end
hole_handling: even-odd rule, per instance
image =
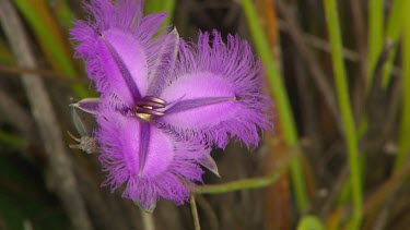
POLYGON ((324 0, 325 14, 327 19, 327 29, 329 33, 332 65, 336 80, 336 89, 340 106, 341 119, 344 129, 344 138, 348 147, 348 158, 350 167, 350 182, 353 198, 353 229, 359 229, 362 220, 362 185, 360 175, 358 137, 349 98, 349 88, 344 63, 342 57, 342 43, 340 24, 336 0, 324 0))

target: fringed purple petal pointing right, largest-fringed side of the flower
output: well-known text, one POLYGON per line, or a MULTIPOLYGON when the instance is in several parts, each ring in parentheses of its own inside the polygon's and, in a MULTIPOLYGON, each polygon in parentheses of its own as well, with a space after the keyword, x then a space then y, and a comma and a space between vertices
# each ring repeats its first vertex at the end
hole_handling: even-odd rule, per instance
POLYGON ((172 105, 159 119, 175 132, 194 134, 224 147, 230 136, 256 146, 260 130, 270 130, 272 105, 263 95, 259 61, 237 36, 227 45, 214 32, 199 35, 197 46, 181 43, 179 60, 160 98, 172 105))

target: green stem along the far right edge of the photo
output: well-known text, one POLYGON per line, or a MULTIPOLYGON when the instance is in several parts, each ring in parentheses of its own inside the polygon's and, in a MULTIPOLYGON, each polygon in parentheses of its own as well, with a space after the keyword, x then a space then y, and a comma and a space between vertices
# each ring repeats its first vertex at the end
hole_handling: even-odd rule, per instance
MULTIPOLYGON (((410 3, 406 4, 406 10, 410 10, 410 3)), ((403 21, 402 39, 402 83, 401 83, 401 120, 398 141, 398 156, 395 162, 395 171, 399 170, 406 162, 410 152, 410 17, 403 21)))

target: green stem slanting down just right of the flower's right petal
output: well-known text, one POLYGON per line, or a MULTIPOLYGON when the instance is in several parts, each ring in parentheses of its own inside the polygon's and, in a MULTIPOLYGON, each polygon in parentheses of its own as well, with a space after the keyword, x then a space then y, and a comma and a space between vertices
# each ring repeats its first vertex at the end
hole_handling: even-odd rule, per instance
MULTIPOLYGON (((283 129, 284 142, 288 146, 294 147, 295 145, 297 145, 298 137, 293 120, 293 113, 288 99, 286 89, 283 85, 272 53, 270 53, 269 51, 271 49, 269 47, 267 37, 263 34, 263 29, 258 20, 258 14, 254 4, 250 0, 242 0, 242 5, 248 21, 256 49, 267 66, 267 76, 272 88, 272 95, 278 109, 281 126, 283 129)), ((308 206, 308 197, 298 158, 294 158, 293 162, 291 164, 291 177, 295 191, 297 207, 301 211, 305 211, 308 206)))

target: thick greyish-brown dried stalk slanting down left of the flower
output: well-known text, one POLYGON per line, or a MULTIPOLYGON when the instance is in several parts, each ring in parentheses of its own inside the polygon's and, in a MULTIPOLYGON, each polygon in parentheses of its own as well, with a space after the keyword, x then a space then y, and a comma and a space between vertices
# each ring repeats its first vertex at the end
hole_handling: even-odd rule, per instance
MULTIPOLYGON (((0 21, 5 35, 10 38, 9 43, 19 65, 36 69, 37 63, 28 37, 10 0, 0 1, 0 21)), ((49 160, 51 189, 61 199, 75 229, 93 229, 45 85, 35 74, 23 74, 22 82, 49 160)))

